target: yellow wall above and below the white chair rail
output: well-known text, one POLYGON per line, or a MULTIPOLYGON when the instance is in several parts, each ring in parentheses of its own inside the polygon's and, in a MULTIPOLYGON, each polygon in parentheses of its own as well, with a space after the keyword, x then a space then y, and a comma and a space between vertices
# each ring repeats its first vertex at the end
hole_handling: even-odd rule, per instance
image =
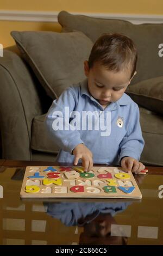
MULTIPOLYGON (((121 14, 163 14, 162 0, 0 0, 0 10, 61 11, 81 13, 121 13, 121 14)), ((10 36, 17 31, 57 31, 58 23, 0 21, 0 44, 4 47, 14 44, 10 36)))

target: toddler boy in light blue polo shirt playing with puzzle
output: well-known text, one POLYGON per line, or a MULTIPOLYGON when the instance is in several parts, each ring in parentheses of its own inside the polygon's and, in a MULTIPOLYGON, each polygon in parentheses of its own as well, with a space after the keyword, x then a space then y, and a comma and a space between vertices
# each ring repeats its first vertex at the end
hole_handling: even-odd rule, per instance
POLYGON ((58 162, 120 164, 139 173, 144 140, 139 107, 125 94, 136 74, 134 42, 122 34, 103 34, 84 62, 86 79, 68 87, 49 109, 45 126, 60 147, 58 162))

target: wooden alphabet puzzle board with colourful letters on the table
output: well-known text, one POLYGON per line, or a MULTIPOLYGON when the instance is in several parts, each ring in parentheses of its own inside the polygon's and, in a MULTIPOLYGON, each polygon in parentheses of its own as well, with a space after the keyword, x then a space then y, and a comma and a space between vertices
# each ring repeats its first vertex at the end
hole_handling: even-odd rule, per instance
POLYGON ((22 198, 142 198, 131 172, 119 167, 29 166, 22 198))

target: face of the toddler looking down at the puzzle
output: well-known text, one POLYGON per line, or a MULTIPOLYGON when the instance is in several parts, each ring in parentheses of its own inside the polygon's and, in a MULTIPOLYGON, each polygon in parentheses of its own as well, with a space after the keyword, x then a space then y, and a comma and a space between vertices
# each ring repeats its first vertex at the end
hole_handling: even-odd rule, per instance
POLYGON ((133 78, 130 78, 130 69, 118 72, 110 71, 98 62, 89 69, 87 60, 84 62, 84 71, 88 78, 90 94, 103 106, 119 100, 133 78))

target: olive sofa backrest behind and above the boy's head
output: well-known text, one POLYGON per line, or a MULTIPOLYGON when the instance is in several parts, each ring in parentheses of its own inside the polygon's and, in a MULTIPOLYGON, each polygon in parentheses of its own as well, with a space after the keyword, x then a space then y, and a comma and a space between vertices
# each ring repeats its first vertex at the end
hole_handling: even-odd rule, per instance
POLYGON ((138 51, 137 74, 131 84, 162 76, 163 57, 159 57, 159 44, 163 38, 163 24, 135 25, 129 21, 98 19, 84 15, 72 15, 61 11, 58 21, 62 32, 81 31, 93 42, 103 33, 122 33, 135 42, 138 51))

